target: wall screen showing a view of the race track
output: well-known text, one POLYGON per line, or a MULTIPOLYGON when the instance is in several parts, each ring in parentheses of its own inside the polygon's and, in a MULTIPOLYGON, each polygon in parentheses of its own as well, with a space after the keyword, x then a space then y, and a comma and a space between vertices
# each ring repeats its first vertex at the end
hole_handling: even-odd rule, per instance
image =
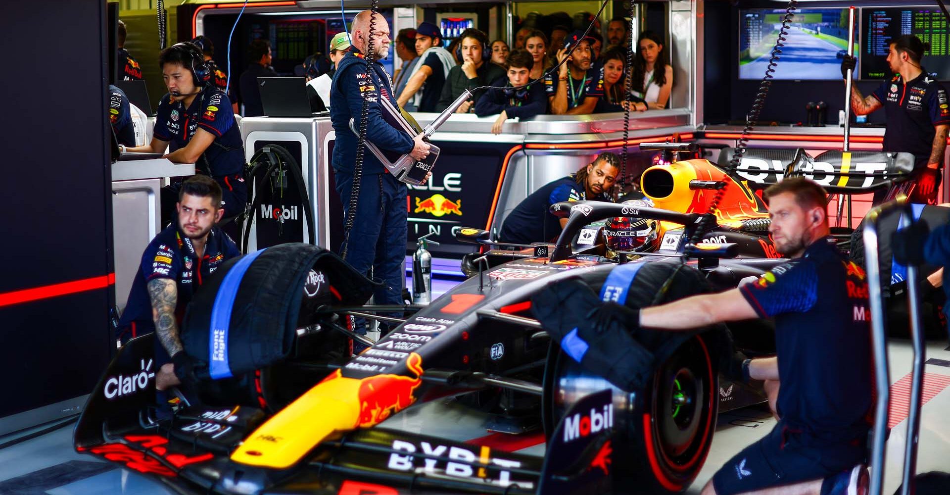
MULTIPOLYGON (((762 79, 785 9, 739 10, 739 79, 762 79)), ((857 38, 857 34, 855 34, 857 38)), ((789 23, 774 79, 841 80, 847 9, 799 9, 789 23)), ((855 43, 855 53, 858 44, 855 43)))

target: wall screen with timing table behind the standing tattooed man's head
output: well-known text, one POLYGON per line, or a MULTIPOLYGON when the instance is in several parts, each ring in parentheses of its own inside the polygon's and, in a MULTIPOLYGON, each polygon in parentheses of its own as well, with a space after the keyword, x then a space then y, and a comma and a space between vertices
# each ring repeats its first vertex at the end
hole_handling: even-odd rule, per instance
POLYGON ((948 52, 947 21, 940 8, 933 7, 864 7, 861 10, 861 79, 886 79, 891 70, 887 67, 887 52, 890 41, 902 34, 913 34, 923 43, 930 44, 930 51, 923 53, 921 66, 932 77, 950 79, 950 52, 948 52))

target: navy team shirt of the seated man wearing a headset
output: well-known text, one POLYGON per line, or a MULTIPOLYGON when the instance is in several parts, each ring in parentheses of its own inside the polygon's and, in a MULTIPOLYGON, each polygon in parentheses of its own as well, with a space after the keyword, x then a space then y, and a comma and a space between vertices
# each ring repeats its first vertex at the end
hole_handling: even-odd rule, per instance
POLYGON ((208 146, 204 155, 208 164, 199 160, 195 167, 206 172, 211 167, 215 179, 237 174, 244 168, 244 148, 240 131, 235 124, 235 115, 231 101, 215 86, 205 86, 191 102, 184 107, 167 93, 161 98, 161 104, 155 114, 153 135, 161 141, 171 143, 171 150, 184 147, 195 136, 198 129, 204 129, 215 136, 215 143, 208 146), (209 165, 210 164, 210 165, 209 165))

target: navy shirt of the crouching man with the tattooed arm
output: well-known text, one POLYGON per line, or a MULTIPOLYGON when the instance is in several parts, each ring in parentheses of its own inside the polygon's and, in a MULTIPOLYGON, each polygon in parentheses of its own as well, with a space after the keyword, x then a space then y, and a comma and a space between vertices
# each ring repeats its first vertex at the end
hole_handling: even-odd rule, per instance
POLYGON ((191 301, 198 287, 215 273, 221 263, 240 256, 234 241, 212 227, 204 246, 204 255, 198 257, 191 239, 181 234, 177 222, 165 227, 158 236, 148 243, 142 254, 139 270, 132 282, 128 302, 119 322, 120 328, 133 323, 142 330, 154 327, 152 320, 152 301, 148 295, 147 284, 155 278, 168 278, 175 281, 178 288, 178 302, 175 314, 178 321, 184 315, 184 309, 191 301))

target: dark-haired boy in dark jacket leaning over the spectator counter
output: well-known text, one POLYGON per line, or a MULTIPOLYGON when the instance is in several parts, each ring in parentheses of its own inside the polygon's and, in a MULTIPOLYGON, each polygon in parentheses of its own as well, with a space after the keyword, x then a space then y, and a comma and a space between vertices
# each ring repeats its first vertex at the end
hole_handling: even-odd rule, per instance
POLYGON ((475 113, 479 117, 499 114, 495 124, 491 126, 493 134, 502 133, 502 126, 507 119, 533 119, 547 108, 544 85, 541 81, 531 83, 531 66, 534 65, 531 54, 526 50, 516 49, 508 55, 505 62, 508 66, 507 79, 501 77, 491 85, 504 86, 505 89, 488 89, 475 104, 475 113), (515 89, 524 85, 529 86, 515 89))

